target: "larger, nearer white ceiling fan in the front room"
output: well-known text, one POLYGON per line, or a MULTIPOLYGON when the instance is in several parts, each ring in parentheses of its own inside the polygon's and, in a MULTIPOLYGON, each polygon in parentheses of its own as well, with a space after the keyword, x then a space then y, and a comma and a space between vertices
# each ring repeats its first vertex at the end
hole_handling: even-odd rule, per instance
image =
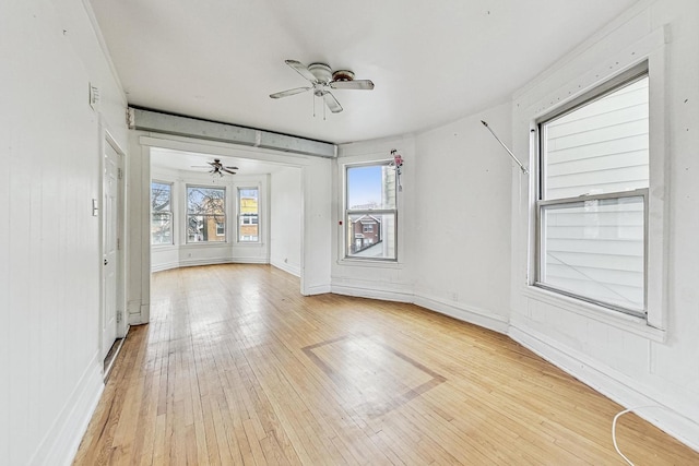
POLYGON ((288 97, 306 91, 313 91, 316 97, 323 98, 330 111, 339 113, 342 111, 342 106, 335 96, 330 93, 330 89, 371 91, 374 88, 374 83, 370 80, 355 80, 354 73, 350 70, 337 70, 333 72, 325 63, 311 63, 306 67, 296 60, 285 60, 284 62, 308 80, 311 85, 270 94, 272 98, 288 97))

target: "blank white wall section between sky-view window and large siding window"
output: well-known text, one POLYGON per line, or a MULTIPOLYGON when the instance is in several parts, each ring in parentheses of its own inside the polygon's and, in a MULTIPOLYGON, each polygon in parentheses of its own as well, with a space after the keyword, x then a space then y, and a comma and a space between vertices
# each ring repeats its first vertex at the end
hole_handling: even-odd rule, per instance
POLYGON ((505 332, 520 169, 481 120, 510 144, 509 104, 415 139, 415 295, 422 306, 505 332))

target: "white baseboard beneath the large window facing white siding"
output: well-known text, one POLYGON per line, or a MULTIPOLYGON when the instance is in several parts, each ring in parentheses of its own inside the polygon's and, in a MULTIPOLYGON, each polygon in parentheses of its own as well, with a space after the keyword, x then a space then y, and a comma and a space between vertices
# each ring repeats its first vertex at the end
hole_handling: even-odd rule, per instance
MULTIPOLYGON (((659 406, 657 408, 638 409, 635 413, 690 449, 699 451, 699 423, 686 418, 657 398, 652 398, 639 391, 638 381, 630 380, 624 374, 615 373, 608 368, 603 368, 599 361, 574 349, 561 348, 558 342, 554 342, 547 336, 541 335, 523 325, 518 325, 517 322, 510 326, 508 334, 510 338, 625 408, 659 406)), ((652 391, 644 392, 650 393, 652 391)), ((612 419, 609 419, 611 421, 612 419)))

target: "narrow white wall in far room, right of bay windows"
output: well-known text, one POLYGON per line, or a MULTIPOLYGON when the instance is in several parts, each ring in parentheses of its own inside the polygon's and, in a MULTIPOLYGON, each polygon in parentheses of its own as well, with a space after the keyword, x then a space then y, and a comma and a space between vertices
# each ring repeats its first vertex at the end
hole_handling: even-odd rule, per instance
POLYGON ((301 273, 301 172, 284 168, 270 177, 270 263, 301 273))

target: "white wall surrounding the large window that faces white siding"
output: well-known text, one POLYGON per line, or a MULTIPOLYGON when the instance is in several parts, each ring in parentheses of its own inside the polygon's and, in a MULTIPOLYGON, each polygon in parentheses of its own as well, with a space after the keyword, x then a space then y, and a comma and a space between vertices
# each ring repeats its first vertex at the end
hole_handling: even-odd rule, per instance
MULTIPOLYGON (((649 322, 528 286, 533 187, 513 192, 510 334, 699 449, 699 2, 640 2, 514 97, 513 139, 531 153, 532 120, 649 58, 649 322), (666 27, 663 27, 666 26, 666 27)), ((533 178, 532 178, 533 179, 533 178)), ((531 277, 531 275, 530 275, 531 277)))

